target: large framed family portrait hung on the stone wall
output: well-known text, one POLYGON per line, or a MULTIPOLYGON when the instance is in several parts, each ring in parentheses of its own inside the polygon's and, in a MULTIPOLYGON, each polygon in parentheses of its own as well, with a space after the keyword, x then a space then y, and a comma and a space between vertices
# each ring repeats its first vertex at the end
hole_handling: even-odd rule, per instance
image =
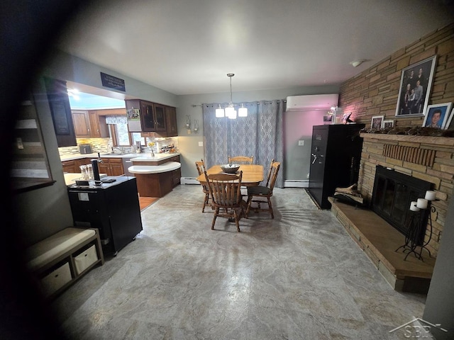
POLYGON ((396 117, 422 116, 431 94, 436 55, 402 70, 396 117))

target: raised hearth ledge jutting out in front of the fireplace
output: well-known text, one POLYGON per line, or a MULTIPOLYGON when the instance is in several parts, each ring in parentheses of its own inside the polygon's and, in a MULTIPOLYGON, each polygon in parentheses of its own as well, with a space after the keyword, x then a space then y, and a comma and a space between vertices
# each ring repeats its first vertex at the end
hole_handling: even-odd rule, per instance
POLYGON ((334 198, 331 212, 341 222, 350 237, 367 254, 374 266, 394 290, 426 294, 436 259, 423 250, 423 260, 395 251, 405 243, 405 237, 375 212, 341 203, 334 198))

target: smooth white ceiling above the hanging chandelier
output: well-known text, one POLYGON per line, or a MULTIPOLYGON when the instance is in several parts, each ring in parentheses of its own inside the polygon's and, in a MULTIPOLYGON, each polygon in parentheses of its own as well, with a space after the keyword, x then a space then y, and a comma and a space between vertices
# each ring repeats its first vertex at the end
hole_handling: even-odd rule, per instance
POLYGON ((92 3, 58 47, 177 95, 228 92, 230 72, 234 92, 338 85, 454 21, 452 0, 92 3))

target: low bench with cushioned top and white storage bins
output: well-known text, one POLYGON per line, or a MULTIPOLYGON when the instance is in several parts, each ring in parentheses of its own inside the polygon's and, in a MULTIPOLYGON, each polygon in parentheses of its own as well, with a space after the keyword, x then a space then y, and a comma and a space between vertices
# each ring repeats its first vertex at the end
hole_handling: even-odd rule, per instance
POLYGON ((98 229, 67 227, 26 250, 28 269, 45 298, 52 298, 104 264, 98 229))

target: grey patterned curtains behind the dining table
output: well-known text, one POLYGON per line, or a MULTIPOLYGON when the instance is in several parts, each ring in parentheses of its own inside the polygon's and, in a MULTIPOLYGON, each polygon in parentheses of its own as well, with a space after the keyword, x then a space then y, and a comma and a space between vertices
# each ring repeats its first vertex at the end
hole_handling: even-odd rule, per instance
MULTIPOLYGON (((276 186, 284 187, 283 180, 283 125, 282 100, 245 103, 248 117, 216 118, 219 103, 202 104, 204 116, 205 158, 207 167, 226 164, 228 156, 253 156, 254 164, 262 164, 264 176, 275 159, 281 162, 276 186)), ((225 107, 226 103, 221 103, 225 107)), ((240 106, 236 105, 238 111, 240 106)))

